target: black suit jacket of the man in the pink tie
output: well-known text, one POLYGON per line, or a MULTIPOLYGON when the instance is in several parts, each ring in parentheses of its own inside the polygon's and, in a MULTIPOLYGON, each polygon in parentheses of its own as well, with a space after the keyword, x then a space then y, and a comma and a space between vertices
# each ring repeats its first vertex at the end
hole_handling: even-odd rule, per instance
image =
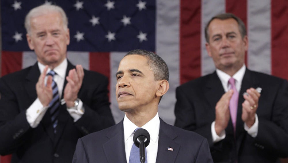
POLYGON ((176 89, 175 126, 195 131, 208 139, 214 162, 278 162, 288 156, 288 89, 287 81, 246 69, 239 92, 236 139, 231 119, 226 138, 212 142, 211 123, 215 106, 224 89, 216 72, 185 83, 176 89), (262 88, 257 116, 257 137, 244 130, 241 119, 242 94, 250 87, 262 88))

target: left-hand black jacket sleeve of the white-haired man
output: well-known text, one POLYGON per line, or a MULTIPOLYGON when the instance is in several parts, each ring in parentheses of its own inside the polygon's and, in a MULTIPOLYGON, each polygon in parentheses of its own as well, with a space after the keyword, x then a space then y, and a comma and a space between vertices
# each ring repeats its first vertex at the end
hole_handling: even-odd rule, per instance
POLYGON ((25 141, 25 133, 31 129, 25 110, 20 111, 19 103, 11 87, 0 78, 0 154, 10 154, 25 141))

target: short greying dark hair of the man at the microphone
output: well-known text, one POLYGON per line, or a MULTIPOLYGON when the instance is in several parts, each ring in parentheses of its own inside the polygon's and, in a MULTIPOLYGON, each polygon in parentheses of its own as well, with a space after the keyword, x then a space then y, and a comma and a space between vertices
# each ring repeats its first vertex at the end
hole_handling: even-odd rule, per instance
POLYGON ((157 54, 146 50, 132 50, 129 51, 127 55, 141 55, 147 58, 147 64, 154 72, 154 79, 157 80, 169 80, 169 70, 165 61, 157 54))

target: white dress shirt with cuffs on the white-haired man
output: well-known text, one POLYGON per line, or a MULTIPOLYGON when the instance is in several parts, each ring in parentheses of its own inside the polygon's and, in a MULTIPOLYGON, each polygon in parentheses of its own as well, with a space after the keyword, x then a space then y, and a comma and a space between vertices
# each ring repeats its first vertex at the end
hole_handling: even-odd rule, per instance
MULTIPOLYGON (((62 96, 64 81, 65 81, 65 75, 67 70, 67 59, 65 59, 60 65, 55 67, 53 70, 56 72, 54 75, 53 80, 56 82, 58 87, 58 93, 59 96, 62 96)), ((38 62, 40 73, 44 71, 45 65, 38 62)), ((48 68, 47 73, 51 69, 48 68)), ((45 83, 47 81, 47 76, 45 78, 45 83)), ((74 122, 76 122, 81 116, 84 114, 84 109, 82 108, 83 103, 81 100, 79 100, 79 105, 77 107, 67 108, 69 114, 74 119, 74 122)), ((26 110, 26 118, 28 123, 32 128, 36 128, 40 121, 42 120, 43 116, 45 115, 46 111, 48 110, 48 106, 43 106, 40 102, 39 98, 37 98, 31 106, 26 110)))

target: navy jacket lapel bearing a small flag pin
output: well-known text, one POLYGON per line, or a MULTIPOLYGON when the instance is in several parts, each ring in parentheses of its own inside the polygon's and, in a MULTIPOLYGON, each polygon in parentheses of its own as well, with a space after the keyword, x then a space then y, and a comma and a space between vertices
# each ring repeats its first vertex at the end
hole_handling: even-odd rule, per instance
POLYGON ((171 127, 160 118, 158 152, 156 162, 175 162, 180 145, 174 139, 177 137, 171 127), (168 150, 172 148, 173 151, 168 150))

